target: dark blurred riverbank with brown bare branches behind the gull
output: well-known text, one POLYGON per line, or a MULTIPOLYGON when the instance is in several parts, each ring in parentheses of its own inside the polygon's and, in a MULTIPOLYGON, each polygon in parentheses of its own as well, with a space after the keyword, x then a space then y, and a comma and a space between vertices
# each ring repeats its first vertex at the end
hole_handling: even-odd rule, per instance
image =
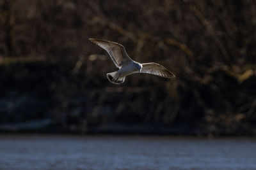
POLYGON ((256 134, 256 3, 0 1, 0 131, 256 134), (177 78, 116 71, 116 41, 177 78))

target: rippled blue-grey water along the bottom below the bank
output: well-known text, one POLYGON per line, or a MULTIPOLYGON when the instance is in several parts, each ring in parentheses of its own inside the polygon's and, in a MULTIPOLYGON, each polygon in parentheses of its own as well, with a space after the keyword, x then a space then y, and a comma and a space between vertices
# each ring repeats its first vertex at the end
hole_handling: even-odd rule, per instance
POLYGON ((0 136, 0 169, 256 169, 256 139, 0 136))

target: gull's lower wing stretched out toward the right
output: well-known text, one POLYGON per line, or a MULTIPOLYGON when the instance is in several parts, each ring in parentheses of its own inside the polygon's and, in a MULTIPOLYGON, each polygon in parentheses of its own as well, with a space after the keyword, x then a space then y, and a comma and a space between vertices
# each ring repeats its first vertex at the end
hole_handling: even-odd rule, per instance
POLYGON ((175 78, 175 75, 171 71, 154 62, 143 63, 140 73, 155 74, 164 78, 175 78))

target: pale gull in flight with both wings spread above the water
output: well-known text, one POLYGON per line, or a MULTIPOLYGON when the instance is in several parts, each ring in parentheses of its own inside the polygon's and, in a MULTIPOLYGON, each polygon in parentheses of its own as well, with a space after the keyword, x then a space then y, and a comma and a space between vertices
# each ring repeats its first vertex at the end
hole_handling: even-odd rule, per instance
POLYGON ((125 47, 119 43, 103 39, 88 39, 106 50, 115 66, 118 68, 118 71, 107 73, 107 78, 111 83, 120 85, 124 83, 126 76, 134 73, 148 73, 164 78, 175 78, 175 75, 171 71, 160 64, 155 62, 141 64, 140 62, 132 60, 125 51, 125 47))

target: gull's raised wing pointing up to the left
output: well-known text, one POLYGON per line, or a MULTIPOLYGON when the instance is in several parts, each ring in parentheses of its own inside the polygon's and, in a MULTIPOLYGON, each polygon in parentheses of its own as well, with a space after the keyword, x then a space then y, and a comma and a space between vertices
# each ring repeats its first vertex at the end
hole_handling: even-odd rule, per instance
POLYGON ((118 43, 94 38, 89 38, 89 40, 106 50, 118 68, 125 66, 132 61, 127 55, 124 46, 118 43))

